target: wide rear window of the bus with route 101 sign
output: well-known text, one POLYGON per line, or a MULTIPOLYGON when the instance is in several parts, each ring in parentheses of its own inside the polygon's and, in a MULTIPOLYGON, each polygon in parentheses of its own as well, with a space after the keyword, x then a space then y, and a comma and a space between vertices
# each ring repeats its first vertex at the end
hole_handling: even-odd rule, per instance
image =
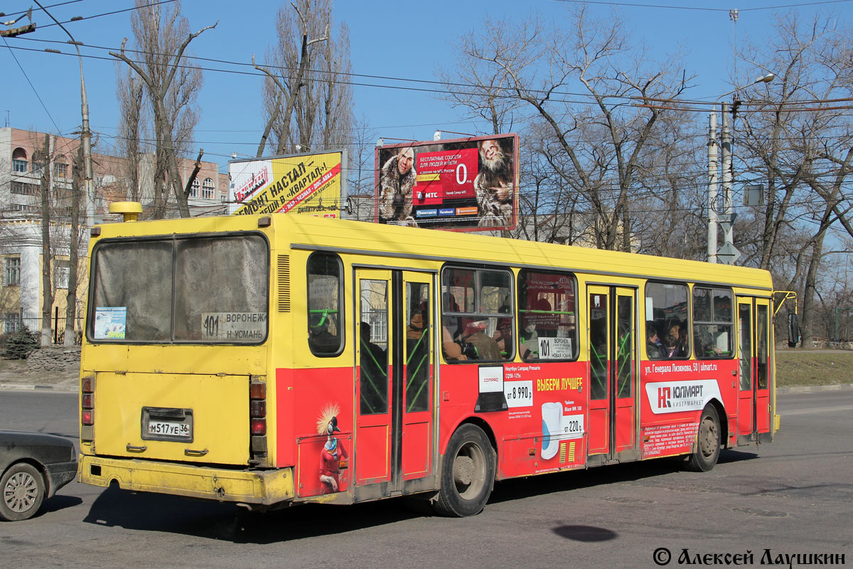
POLYGON ((105 241, 87 336, 96 342, 258 344, 269 249, 260 235, 105 241))

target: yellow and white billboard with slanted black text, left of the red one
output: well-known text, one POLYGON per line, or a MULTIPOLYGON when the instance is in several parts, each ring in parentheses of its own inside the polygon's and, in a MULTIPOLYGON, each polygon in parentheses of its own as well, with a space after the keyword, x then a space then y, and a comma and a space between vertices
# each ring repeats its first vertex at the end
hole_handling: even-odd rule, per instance
POLYGON ((229 213, 337 218, 346 201, 346 150, 230 160, 229 213))

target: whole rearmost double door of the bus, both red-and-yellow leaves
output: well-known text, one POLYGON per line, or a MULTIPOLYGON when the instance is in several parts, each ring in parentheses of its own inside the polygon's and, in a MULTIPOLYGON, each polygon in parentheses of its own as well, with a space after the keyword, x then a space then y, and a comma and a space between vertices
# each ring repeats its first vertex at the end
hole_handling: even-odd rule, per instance
POLYGON ((432 279, 403 270, 356 272, 356 501, 432 486, 432 279))

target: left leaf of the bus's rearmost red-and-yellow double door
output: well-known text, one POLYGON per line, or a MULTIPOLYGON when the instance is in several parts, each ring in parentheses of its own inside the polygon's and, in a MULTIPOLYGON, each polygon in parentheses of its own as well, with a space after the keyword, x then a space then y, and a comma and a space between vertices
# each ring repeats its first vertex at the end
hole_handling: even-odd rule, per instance
POLYGON ((356 441, 353 480, 358 487, 388 484, 392 473, 392 275, 356 270, 356 441))

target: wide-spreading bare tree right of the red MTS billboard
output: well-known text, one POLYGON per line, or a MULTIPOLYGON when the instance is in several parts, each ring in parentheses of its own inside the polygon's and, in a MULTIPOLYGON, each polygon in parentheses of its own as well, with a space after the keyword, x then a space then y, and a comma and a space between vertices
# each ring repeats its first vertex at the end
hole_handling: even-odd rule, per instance
MULTIPOLYGON (((463 61, 476 62, 473 78, 485 78, 462 104, 495 117, 500 126, 515 107, 504 103, 501 111, 491 100, 512 93, 553 142, 544 160, 593 214, 595 246, 630 250, 631 190, 642 175, 647 144, 668 112, 638 103, 687 89, 690 78, 678 58, 650 61, 629 43, 618 17, 593 20, 583 7, 573 11, 569 29, 537 20, 486 20, 480 29, 458 44, 463 61)), ((459 103, 459 90, 454 93, 450 84, 448 90, 459 103)))

